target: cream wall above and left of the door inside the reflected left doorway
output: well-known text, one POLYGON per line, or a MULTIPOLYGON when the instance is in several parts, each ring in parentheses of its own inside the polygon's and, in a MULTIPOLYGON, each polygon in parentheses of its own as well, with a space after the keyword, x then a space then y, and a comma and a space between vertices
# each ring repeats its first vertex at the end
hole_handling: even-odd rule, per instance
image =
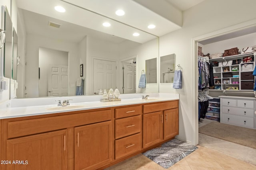
POLYGON ((68 66, 68 52, 39 47, 39 97, 48 96, 48 73, 51 65, 68 66))

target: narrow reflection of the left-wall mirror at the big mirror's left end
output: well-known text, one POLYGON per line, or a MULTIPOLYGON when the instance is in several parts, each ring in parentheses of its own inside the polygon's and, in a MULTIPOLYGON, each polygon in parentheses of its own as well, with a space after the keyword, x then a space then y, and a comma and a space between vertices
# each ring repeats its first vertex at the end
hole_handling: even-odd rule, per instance
POLYGON ((17 80, 18 66, 18 35, 13 28, 13 46, 12 46, 12 79, 17 80))

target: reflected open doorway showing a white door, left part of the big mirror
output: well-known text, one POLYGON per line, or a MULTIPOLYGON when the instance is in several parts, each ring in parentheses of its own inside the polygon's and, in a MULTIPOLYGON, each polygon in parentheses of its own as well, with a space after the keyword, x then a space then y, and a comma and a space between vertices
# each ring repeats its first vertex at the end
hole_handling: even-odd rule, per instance
POLYGON ((68 52, 40 47, 39 68, 39 97, 68 95, 68 52))

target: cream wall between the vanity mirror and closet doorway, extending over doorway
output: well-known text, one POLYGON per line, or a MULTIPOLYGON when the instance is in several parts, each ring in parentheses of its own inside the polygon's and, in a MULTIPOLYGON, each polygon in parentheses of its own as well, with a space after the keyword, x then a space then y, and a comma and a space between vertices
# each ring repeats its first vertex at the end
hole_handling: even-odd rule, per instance
POLYGON ((255 6, 255 0, 205 0, 183 12, 182 29, 160 37, 160 56, 175 53, 176 64, 180 64, 183 70, 181 90, 171 89, 161 84, 159 87, 160 92, 180 94, 179 139, 197 144, 196 107, 198 101, 195 101, 195 89, 197 88, 194 87, 197 79, 193 73, 192 39, 255 19, 255 6))

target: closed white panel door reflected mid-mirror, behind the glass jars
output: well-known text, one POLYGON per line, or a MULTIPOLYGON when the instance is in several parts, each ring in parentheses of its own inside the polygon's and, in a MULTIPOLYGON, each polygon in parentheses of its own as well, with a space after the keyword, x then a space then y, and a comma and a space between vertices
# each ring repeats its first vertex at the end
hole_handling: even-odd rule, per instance
POLYGON ((116 62, 106 60, 93 60, 93 92, 98 94, 100 89, 116 88, 116 62))

